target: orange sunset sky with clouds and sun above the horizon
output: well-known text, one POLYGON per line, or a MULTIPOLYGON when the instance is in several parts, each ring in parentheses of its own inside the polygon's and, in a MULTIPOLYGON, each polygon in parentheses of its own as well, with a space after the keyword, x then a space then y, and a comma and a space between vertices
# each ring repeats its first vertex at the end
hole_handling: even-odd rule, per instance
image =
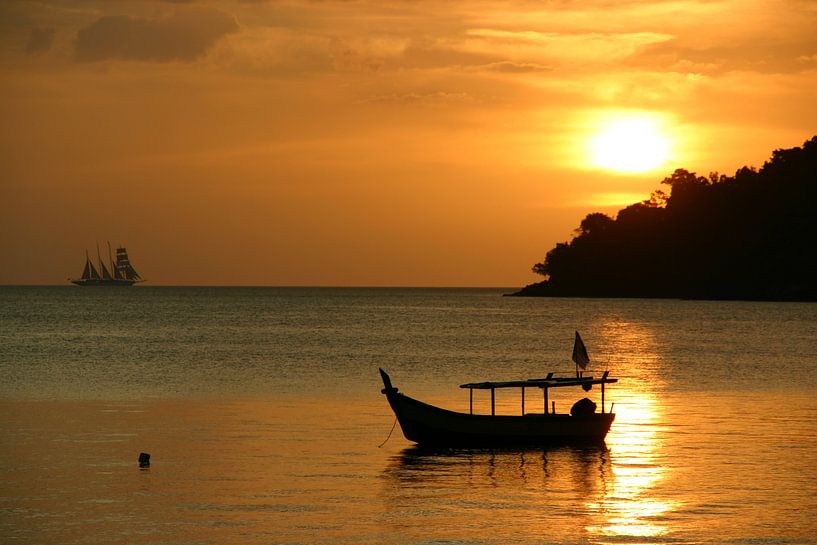
POLYGON ((522 286, 815 133, 811 0, 4 0, 0 284, 522 286))

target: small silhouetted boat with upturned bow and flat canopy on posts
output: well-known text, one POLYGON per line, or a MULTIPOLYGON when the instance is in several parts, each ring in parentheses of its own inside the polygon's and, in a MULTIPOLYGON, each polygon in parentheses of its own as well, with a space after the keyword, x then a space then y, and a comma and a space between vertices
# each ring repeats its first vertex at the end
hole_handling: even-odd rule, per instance
POLYGON ((460 388, 470 390, 470 413, 459 413, 441 409, 399 393, 392 386, 391 378, 380 369, 383 390, 403 435, 409 441, 422 446, 436 447, 493 447, 530 446, 558 443, 602 443, 615 419, 615 414, 605 412, 604 386, 618 382, 608 378, 608 372, 601 377, 583 376, 554 377, 506 382, 477 382, 462 384, 460 388), (583 398, 573 405, 571 414, 557 414, 548 407, 550 388, 581 387, 585 391, 594 385, 601 385, 601 412, 596 412, 596 404, 583 398), (495 391, 500 388, 522 388, 522 414, 519 416, 497 415, 495 391), (525 389, 541 389, 544 397, 544 412, 525 412, 525 389), (474 390, 491 390, 491 414, 474 414, 474 390))

